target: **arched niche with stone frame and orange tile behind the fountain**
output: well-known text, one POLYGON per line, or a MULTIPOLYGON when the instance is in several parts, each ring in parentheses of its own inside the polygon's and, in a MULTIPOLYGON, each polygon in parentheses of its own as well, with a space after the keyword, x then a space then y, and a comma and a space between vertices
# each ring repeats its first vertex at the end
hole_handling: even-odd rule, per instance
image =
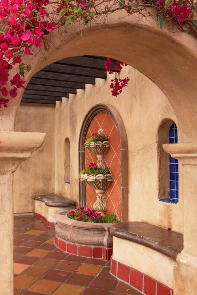
MULTIPOLYGON (((110 148, 105 154, 105 166, 110 167, 114 180, 105 193, 106 214, 115 213, 118 219, 128 219, 128 146, 126 131, 120 114, 110 105, 99 104, 87 113, 82 124, 79 138, 79 171, 90 163, 97 163, 96 155, 84 148, 84 140, 102 128, 108 135, 110 148), (124 163, 124 167, 122 167, 124 163)), ((84 181, 79 181, 80 206, 90 207, 96 201, 96 193, 84 181)))

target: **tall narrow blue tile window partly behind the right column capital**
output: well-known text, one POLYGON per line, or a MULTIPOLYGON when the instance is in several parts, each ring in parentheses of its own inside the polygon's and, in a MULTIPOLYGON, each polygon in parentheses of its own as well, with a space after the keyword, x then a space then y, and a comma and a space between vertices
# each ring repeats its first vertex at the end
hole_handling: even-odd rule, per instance
MULTIPOLYGON (((173 123, 169 129, 169 143, 178 143, 176 124, 173 123)), ((178 200, 178 160, 169 155, 170 171, 170 198, 178 200)))

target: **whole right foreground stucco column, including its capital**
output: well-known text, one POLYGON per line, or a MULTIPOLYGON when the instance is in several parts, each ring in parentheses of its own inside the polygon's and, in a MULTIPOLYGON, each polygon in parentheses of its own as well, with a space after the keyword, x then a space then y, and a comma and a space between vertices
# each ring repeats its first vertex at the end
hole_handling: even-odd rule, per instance
MULTIPOLYGON (((163 145, 183 165, 184 248, 174 269, 174 295, 195 295, 197 278, 197 142, 163 145)), ((180 196, 181 197, 181 196, 180 196)))

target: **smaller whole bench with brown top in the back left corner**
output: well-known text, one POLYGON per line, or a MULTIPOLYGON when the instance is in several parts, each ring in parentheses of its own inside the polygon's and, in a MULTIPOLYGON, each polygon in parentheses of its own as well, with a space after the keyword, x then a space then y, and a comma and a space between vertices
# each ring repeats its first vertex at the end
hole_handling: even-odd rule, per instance
POLYGON ((54 227, 58 222, 56 216, 63 212, 69 212, 75 208, 75 201, 58 194, 33 195, 35 200, 35 216, 43 219, 48 226, 54 227))

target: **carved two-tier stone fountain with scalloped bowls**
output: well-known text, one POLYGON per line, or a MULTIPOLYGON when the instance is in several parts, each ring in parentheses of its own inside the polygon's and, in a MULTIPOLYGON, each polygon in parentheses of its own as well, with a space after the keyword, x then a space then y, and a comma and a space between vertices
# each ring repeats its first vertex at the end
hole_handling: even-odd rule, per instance
MULTIPOLYGON (((103 135, 103 130, 98 130, 98 135, 103 135)), ((103 142, 85 142, 85 148, 88 148, 93 154, 97 156, 97 166, 100 169, 105 169, 105 154, 107 153, 108 148, 110 147, 110 142, 105 140, 103 142)), ((95 189, 97 194, 97 200, 93 204, 93 208, 96 212, 105 215, 107 209, 105 202, 105 191, 108 188, 111 181, 113 181, 112 174, 97 174, 97 175, 87 175, 82 174, 81 180, 85 180, 93 189, 95 189)))

